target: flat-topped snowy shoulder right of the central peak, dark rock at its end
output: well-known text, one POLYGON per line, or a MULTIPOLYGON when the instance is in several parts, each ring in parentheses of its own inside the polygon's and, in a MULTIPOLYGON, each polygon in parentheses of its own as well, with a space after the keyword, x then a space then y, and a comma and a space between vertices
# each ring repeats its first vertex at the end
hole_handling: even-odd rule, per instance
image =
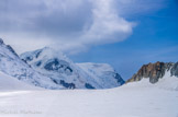
POLYGON ((86 71, 100 85, 110 89, 124 84, 124 80, 119 73, 108 63, 77 63, 84 71, 86 71))

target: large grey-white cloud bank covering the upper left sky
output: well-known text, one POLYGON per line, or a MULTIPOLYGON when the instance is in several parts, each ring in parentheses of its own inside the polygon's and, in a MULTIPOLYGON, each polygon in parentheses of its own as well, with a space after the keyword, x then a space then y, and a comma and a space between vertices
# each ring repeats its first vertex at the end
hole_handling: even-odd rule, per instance
POLYGON ((2 0, 0 35, 19 52, 52 46, 76 54, 96 45, 126 39, 132 34, 134 23, 125 20, 123 14, 129 14, 140 2, 2 0))

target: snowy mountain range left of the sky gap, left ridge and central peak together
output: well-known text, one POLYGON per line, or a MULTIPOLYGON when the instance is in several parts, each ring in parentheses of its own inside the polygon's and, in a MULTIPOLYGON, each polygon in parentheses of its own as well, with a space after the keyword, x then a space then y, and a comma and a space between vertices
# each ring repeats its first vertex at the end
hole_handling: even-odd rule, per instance
POLYGON ((107 66, 100 66, 100 71, 96 68, 94 75, 48 47, 22 54, 21 58, 0 39, 0 71, 29 84, 45 89, 109 89, 124 82, 110 66, 108 71, 107 66))

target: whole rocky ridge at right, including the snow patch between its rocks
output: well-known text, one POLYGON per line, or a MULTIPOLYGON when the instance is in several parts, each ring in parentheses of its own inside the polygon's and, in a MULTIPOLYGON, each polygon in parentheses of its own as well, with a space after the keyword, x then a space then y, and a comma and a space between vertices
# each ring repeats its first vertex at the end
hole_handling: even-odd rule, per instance
POLYGON ((152 84, 163 81, 162 79, 178 79, 178 62, 157 61, 155 63, 144 65, 126 83, 143 79, 148 79, 152 84))

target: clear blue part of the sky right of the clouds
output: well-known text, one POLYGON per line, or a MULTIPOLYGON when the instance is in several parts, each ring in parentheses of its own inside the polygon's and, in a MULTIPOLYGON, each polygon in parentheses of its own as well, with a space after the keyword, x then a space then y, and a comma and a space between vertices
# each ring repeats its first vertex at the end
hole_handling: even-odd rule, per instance
POLYGON ((133 34, 125 40, 92 47, 71 56, 77 62, 108 62, 126 80, 144 63, 178 61, 178 4, 167 2, 163 9, 130 17, 137 21, 133 34))

